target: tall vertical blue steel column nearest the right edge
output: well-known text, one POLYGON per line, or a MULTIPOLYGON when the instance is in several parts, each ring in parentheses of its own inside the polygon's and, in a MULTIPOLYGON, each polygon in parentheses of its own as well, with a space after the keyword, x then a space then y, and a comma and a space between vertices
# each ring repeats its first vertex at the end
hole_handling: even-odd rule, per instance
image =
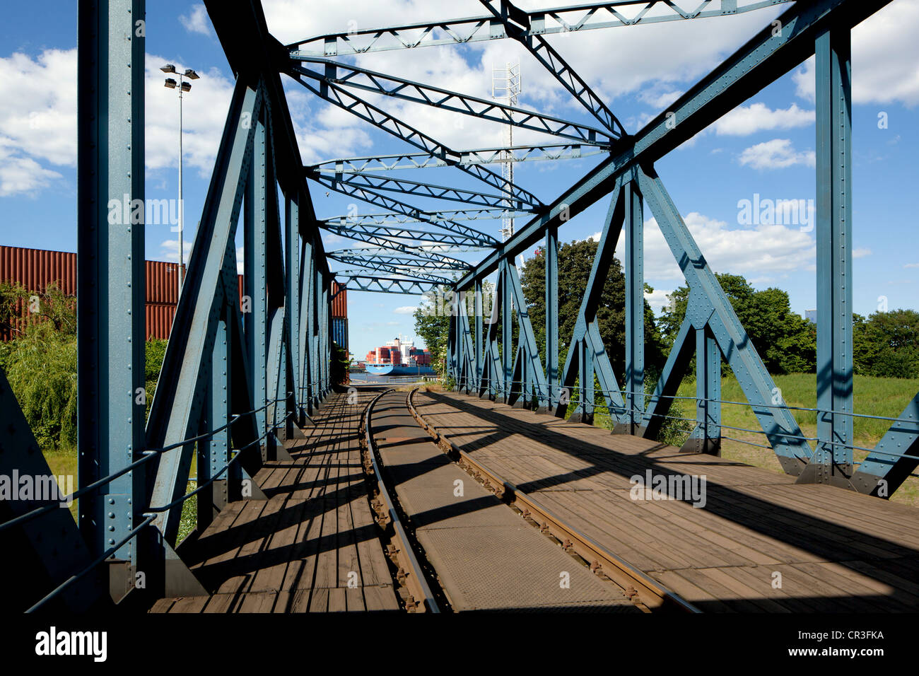
POLYGON ((851 487, 852 69, 851 36, 817 36, 817 449, 800 483, 851 487))

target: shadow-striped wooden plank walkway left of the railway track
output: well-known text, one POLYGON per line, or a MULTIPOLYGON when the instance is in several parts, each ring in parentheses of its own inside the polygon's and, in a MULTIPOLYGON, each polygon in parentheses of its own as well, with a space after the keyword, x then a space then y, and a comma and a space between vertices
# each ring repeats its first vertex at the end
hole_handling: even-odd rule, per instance
POLYGON ((360 417, 375 393, 331 395, 293 462, 255 475, 267 500, 231 503, 193 547, 209 596, 163 599, 153 613, 397 611, 361 469, 360 417))

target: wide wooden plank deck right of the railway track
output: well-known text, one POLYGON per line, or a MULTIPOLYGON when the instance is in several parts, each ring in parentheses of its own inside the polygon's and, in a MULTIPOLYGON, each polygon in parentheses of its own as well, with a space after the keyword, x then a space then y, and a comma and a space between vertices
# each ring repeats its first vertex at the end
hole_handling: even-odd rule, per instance
POLYGON ((703 611, 919 611, 919 510, 455 393, 414 404, 449 441, 703 611), (704 507, 633 475, 704 475, 704 507), (643 494, 642 494, 643 495, 643 494))

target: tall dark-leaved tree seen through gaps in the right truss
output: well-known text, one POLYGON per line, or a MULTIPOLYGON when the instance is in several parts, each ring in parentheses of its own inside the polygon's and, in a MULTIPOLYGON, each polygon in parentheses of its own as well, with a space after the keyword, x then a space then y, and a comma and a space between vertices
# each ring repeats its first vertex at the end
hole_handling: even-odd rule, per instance
MULTIPOLYGON (((559 362, 564 364, 578 310, 594 264, 597 243, 593 240, 572 242, 559 247, 559 362)), ((530 258, 520 279, 527 299, 530 322, 536 336, 543 364, 546 360, 546 267, 541 255, 530 258)), ((653 289, 645 285, 645 292, 653 289)), ((617 258, 610 263, 603 293, 596 310, 600 336, 607 348, 609 361, 617 376, 625 372, 625 293, 626 280, 617 258)), ((644 302, 644 344, 646 377, 653 379, 664 365, 664 352, 651 305, 644 302)), ((560 366, 561 368, 561 366, 560 366)))

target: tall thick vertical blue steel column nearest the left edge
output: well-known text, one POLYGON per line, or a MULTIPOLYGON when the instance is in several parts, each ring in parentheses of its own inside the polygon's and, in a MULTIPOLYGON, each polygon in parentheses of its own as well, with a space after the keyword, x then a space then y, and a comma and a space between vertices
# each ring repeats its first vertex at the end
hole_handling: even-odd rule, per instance
MULTIPOLYGON (((77 67, 77 449, 82 486, 144 449, 144 0, 80 3, 77 67), (138 206, 139 205, 139 206, 138 206)), ((92 557, 145 510, 143 467, 80 498, 92 557)), ((120 597, 139 564, 134 540, 115 555, 120 597)))

